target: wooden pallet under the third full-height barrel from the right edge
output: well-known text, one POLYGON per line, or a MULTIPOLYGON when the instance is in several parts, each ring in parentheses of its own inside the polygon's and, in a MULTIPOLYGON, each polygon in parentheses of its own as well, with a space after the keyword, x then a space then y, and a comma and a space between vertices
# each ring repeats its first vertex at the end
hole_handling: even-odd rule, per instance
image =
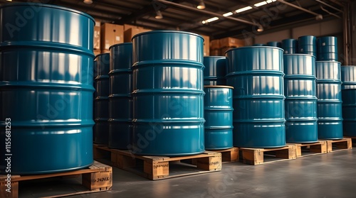
POLYGON ((318 141, 316 143, 288 143, 288 145, 295 145, 297 158, 325 154, 328 151, 326 141, 318 141))

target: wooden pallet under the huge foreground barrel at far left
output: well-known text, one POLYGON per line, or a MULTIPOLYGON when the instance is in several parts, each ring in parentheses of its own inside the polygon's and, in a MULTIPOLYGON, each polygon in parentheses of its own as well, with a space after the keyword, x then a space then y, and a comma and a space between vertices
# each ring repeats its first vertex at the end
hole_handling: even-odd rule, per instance
MULTIPOLYGON (((70 178, 70 177, 80 177, 82 176, 83 187, 88 190, 81 192, 73 192, 67 194, 58 194, 49 197, 66 197, 75 194, 87 194, 91 192, 102 192, 110 190, 112 187, 112 167, 108 165, 103 165, 98 162, 94 162, 88 168, 83 168, 81 170, 74 170, 69 172, 57 172, 42 175, 11 175, 11 192, 6 192, 8 186, 6 184, 7 175, 0 175, 0 197, 19 197, 19 182, 31 182, 33 180, 45 179, 45 178, 70 178)), ((21 190, 21 188, 20 188, 21 190)), ((46 196, 48 197, 48 196, 46 196)))

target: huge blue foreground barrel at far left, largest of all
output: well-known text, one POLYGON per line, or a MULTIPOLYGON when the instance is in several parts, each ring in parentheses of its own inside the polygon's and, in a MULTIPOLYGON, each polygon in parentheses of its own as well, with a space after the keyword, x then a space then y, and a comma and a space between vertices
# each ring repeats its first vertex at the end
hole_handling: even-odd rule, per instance
MULTIPOLYGON (((88 167, 94 19, 31 3, 0 6, 0 18, 0 150, 1 156, 11 154, 11 175, 88 167), (9 125, 11 148, 5 150, 10 137, 3 129, 9 125)), ((5 167, 1 160, 0 172, 5 167)))

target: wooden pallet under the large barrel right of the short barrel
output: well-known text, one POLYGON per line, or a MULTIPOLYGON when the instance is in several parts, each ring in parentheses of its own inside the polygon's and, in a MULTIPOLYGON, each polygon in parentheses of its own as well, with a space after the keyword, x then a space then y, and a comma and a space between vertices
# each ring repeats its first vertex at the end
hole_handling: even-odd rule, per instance
POLYGON ((295 145, 286 145, 282 148, 239 148, 239 152, 242 163, 248 165, 275 163, 296 158, 295 145))

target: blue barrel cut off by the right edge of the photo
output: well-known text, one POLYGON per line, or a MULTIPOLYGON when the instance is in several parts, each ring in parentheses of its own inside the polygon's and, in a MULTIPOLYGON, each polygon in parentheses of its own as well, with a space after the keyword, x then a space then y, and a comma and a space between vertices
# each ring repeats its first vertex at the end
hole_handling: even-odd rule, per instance
POLYGON ((356 136, 356 65, 341 66, 344 136, 356 136))

